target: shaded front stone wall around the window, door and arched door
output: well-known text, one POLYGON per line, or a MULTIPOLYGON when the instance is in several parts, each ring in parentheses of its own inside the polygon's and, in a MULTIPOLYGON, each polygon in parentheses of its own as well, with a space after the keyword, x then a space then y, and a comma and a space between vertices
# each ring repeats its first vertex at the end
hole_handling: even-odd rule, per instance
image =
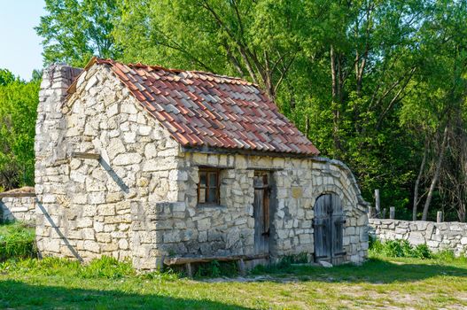
MULTIPOLYGON (((180 154, 177 173, 179 202, 176 212, 158 210, 163 237, 160 254, 253 254, 253 174, 272 170, 270 253, 284 255, 314 252, 312 221, 315 199, 334 192, 346 216, 344 260, 360 263, 368 251, 368 218, 354 179, 346 167, 329 159, 282 159, 245 155, 180 154), (197 205, 198 167, 222 167, 221 205, 197 205)), ((167 207, 167 206, 165 206, 167 207)))

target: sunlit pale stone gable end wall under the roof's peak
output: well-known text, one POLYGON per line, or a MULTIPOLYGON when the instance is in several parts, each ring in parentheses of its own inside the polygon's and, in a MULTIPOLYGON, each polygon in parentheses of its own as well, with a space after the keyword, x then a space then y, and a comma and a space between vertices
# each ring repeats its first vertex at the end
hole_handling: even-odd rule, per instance
POLYGON ((154 226, 148 205, 177 199, 178 144, 105 66, 80 77, 63 112, 62 127, 53 133, 61 156, 37 169, 38 249, 82 260, 131 258, 138 265, 156 242, 147 233, 154 226), (101 159, 74 158, 73 152, 101 159))

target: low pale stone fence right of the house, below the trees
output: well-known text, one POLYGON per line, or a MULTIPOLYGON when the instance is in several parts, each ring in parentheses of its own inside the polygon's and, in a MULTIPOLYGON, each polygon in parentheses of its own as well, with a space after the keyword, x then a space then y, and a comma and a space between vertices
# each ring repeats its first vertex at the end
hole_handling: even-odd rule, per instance
POLYGON ((369 225, 370 236, 382 241, 403 239, 412 245, 426 244, 433 252, 467 252, 467 223, 369 219, 369 225))

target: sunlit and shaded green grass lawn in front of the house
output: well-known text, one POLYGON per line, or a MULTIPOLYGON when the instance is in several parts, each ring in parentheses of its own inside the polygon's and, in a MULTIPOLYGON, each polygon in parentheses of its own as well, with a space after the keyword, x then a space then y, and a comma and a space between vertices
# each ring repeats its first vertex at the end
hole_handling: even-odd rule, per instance
POLYGON ((3 263, 0 308, 467 308, 465 260, 373 258, 362 267, 267 271, 246 278, 191 280, 135 275, 128 267, 109 269, 102 262, 86 268, 56 259, 3 263))

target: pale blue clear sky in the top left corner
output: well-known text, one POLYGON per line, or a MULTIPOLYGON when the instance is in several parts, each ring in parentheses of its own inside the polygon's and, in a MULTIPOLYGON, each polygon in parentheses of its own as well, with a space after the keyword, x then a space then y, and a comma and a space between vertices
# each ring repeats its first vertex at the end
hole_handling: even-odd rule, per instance
POLYGON ((43 67, 42 39, 34 27, 45 14, 43 0, 0 0, 0 69, 30 80, 43 67))

